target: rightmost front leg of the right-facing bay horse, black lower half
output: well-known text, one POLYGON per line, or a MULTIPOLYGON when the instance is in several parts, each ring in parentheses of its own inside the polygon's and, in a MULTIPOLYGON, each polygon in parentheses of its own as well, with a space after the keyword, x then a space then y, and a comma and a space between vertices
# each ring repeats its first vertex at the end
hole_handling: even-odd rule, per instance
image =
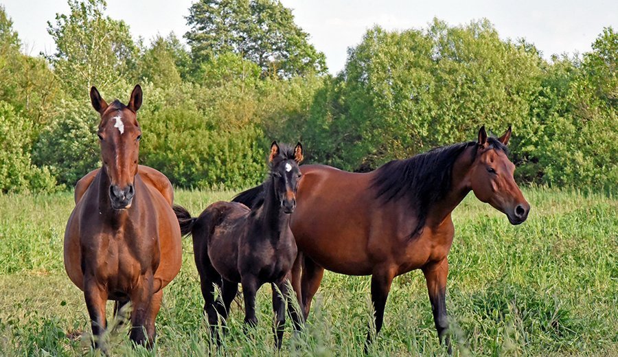
POLYGON ((453 354, 453 348, 450 346, 450 337, 447 335, 446 276, 448 275, 448 260, 444 258, 441 262, 425 266, 422 270, 427 281, 427 291, 429 292, 433 321, 438 332, 439 341, 446 344, 448 354, 453 354))

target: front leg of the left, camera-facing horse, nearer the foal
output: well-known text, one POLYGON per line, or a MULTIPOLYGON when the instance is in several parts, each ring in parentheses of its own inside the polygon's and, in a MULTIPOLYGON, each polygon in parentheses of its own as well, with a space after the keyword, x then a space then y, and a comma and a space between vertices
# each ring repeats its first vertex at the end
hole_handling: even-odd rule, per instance
POLYGON ((134 290, 130 293, 131 306, 131 332, 129 338, 138 345, 152 347, 152 341, 147 336, 147 322, 150 316, 150 304, 152 303, 152 274, 142 275, 134 290))

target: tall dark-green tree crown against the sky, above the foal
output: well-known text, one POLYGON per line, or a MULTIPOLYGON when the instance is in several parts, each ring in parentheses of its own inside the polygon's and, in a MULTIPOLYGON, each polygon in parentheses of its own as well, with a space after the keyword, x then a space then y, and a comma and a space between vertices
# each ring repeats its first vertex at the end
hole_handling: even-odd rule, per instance
POLYGON ((325 56, 278 0, 200 0, 189 9, 185 34, 197 62, 225 52, 260 66, 264 76, 325 73, 325 56))

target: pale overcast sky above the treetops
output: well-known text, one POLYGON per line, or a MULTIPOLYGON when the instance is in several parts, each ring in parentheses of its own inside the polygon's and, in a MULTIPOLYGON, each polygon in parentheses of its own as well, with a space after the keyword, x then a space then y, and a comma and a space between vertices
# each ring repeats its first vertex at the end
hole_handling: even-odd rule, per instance
MULTIPOLYGON (((25 52, 54 52, 47 21, 67 13, 65 0, 0 0, 12 18, 25 52)), ((122 19, 135 38, 147 42, 157 34, 187 32, 184 16, 192 0, 107 0, 106 13, 122 19), (173 4, 173 5, 172 5, 173 4)), ((293 9, 296 23, 310 34, 310 42, 326 55, 331 73, 343 69, 347 47, 361 41, 367 28, 389 30, 426 27, 434 16, 450 25, 489 19, 502 38, 526 38, 545 58, 551 54, 586 52, 603 27, 618 30, 618 1, 352 1, 282 0, 293 9)))

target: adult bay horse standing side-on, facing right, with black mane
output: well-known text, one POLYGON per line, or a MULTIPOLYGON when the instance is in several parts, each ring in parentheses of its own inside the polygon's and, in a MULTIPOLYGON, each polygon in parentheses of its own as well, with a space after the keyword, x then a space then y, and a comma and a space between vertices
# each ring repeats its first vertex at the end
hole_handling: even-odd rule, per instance
MULTIPOLYGON (((494 138, 482 127, 477 141, 391 161, 367 173, 302 166, 290 226, 299 249, 293 286, 304 317, 325 268, 371 275, 380 332, 393 278, 421 269, 439 340, 450 353, 445 297, 447 256, 455 232, 453 209, 470 191, 506 214, 511 224, 524 222, 530 209, 514 181, 515 165, 507 157, 510 137, 511 128, 494 138)), ((254 187, 234 201, 251 207, 262 195, 262 187, 254 187)))

